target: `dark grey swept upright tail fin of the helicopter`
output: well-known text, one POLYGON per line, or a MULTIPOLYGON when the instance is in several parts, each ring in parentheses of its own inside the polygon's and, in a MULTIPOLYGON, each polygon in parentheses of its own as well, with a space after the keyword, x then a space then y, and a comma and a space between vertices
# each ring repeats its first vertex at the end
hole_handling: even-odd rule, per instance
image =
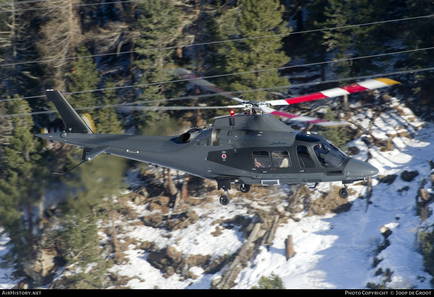
POLYGON ((71 133, 93 133, 92 129, 89 128, 85 121, 77 114, 71 104, 66 101, 60 91, 47 90, 45 95, 48 101, 53 102, 57 111, 59 111, 60 117, 62 117, 65 123, 65 131, 71 133))

